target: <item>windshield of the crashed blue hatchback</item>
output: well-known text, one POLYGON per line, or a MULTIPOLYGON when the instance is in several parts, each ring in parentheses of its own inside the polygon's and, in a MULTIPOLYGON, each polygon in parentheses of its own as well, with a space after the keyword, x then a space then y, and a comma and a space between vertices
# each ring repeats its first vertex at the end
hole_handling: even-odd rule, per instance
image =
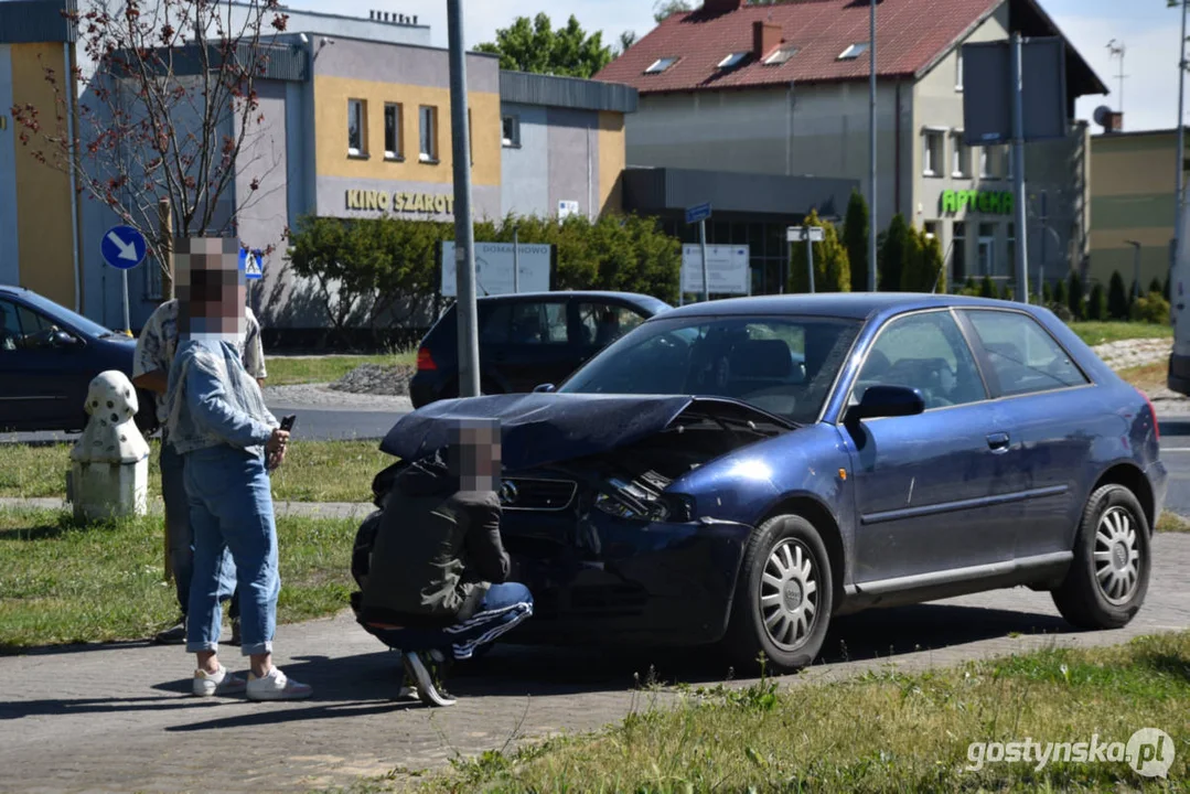
POLYGON ((569 394, 691 394, 815 421, 860 323, 821 317, 654 319, 559 388, 569 394))

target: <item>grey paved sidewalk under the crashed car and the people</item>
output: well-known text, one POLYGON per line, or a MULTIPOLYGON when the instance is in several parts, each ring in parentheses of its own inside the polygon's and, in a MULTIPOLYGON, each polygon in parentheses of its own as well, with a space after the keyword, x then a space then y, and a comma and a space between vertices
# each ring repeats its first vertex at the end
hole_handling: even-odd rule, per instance
MULTIPOLYGON (((796 686, 896 665, 922 669, 988 655, 1121 643, 1190 629, 1190 536, 1155 539, 1148 602, 1125 630, 1072 633, 1045 593, 1001 590, 837 621, 823 663, 796 686)), ((226 648, 225 663, 244 664, 226 648)), ((704 651, 501 646, 426 709, 396 700, 394 655, 347 614, 282 626, 278 663, 315 687, 302 704, 198 701, 192 659, 145 644, 0 658, 0 789, 6 792, 290 792, 347 784, 390 769, 438 768, 456 754, 559 731, 594 730, 665 695, 634 676, 710 683, 726 670, 704 651)))

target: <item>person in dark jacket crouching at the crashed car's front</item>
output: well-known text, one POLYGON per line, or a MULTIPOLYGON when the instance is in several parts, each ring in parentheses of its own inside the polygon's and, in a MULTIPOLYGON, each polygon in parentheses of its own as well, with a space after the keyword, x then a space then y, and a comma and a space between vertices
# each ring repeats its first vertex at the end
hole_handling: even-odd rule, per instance
POLYGON ((533 614, 528 588, 507 581, 499 487, 499 423, 462 420, 445 450, 397 476, 384 506, 359 620, 401 651, 427 706, 455 704, 452 661, 533 614))

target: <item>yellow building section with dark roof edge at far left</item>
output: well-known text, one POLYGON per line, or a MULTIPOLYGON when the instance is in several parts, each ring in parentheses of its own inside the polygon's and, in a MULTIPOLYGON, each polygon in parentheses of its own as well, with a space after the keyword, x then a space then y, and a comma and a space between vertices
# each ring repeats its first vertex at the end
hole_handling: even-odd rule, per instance
POLYGON ((0 283, 81 310, 79 201, 56 167, 64 152, 36 136, 21 143, 24 127, 12 114, 13 106, 36 107, 50 129, 60 114, 75 120, 73 77, 61 93, 45 79, 46 69, 57 80, 74 74, 74 31, 62 10, 61 0, 0 2, 0 283))

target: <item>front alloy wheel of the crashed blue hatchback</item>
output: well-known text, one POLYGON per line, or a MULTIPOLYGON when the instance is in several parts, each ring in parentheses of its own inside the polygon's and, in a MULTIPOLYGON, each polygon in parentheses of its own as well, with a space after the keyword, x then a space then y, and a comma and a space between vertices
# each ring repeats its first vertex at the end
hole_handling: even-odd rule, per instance
POLYGON ((785 538, 769 554, 760 579, 760 612, 769 639, 782 650, 806 643, 819 609, 814 556, 800 540, 785 538))

